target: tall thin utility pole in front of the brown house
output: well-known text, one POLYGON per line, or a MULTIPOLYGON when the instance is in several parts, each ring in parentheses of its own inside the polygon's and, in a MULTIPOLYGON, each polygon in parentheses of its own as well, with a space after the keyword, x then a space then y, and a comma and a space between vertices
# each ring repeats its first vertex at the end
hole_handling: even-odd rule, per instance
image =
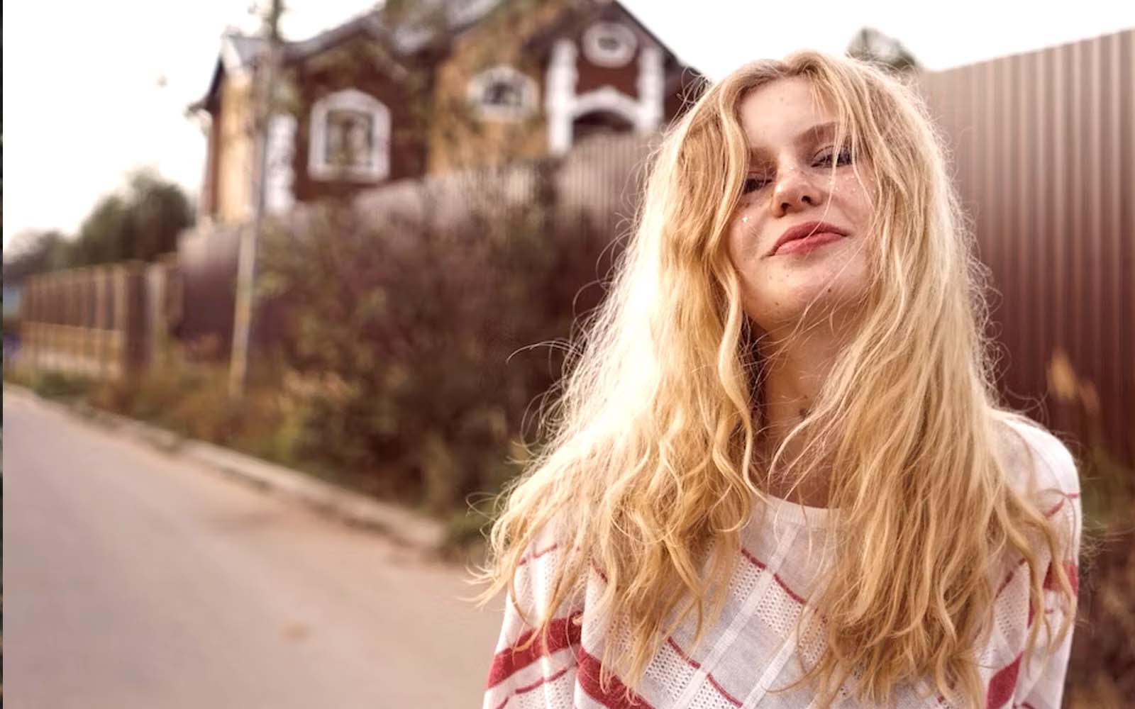
POLYGON ((244 395, 244 383, 249 370, 249 348, 252 341, 253 294, 257 280, 257 243, 263 228, 264 193, 268 183, 268 132, 271 126, 276 68, 279 64, 279 19, 284 12, 283 0, 270 0, 271 6, 264 19, 264 48, 261 70, 255 78, 259 92, 255 101, 254 140, 257 142, 255 202, 253 203, 252 227, 241 231, 241 250, 237 256, 236 310, 233 313, 233 353, 228 368, 228 394, 230 398, 244 395))

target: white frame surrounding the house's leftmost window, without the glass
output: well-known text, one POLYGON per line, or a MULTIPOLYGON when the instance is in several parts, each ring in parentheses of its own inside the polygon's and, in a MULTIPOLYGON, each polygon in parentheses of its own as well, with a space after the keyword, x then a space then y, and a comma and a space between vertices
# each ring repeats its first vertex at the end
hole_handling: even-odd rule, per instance
POLYGON ((381 101, 354 88, 328 94, 311 108, 308 175, 314 179, 372 182, 390 172, 390 111, 381 101), (327 161, 327 117, 333 110, 358 111, 371 118, 370 160, 364 166, 336 166, 327 161))

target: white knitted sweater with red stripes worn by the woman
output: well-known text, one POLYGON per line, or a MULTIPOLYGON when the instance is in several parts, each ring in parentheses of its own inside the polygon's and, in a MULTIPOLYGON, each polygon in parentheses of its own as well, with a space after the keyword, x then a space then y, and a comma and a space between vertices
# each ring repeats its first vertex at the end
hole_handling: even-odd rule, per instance
MULTIPOLYGON (((1068 449, 1052 434, 1032 427, 1014 424, 1035 453, 1036 469, 1018 471, 1032 474, 1050 516, 1071 534, 1071 558, 1063 559, 1074 585, 1081 534, 1079 483, 1068 449), (1039 469, 1039 470, 1037 470, 1039 469)), ((695 645, 693 621, 681 625, 646 668, 639 691, 624 699, 624 686, 615 677, 600 686, 599 670, 604 643, 603 624, 596 614, 596 600, 605 580, 592 569, 582 602, 562 607, 550 624, 547 642, 533 642, 527 650, 514 650, 532 630, 505 604, 504 625, 489 669, 485 709, 589 709, 594 707, 735 709, 743 707, 805 709, 814 707, 814 689, 807 684, 777 692, 801 675, 802 659, 810 666, 822 644, 802 643, 797 649, 796 621, 801 613, 813 613, 807 605, 823 577, 838 534, 831 510, 804 507, 771 498, 765 514, 755 514, 741 531, 741 558, 729 584, 724 610, 713 627, 705 630, 695 645), (802 658, 800 656, 804 656, 802 658)), ((529 550, 515 579, 516 602, 529 619, 537 617, 549 589, 553 564, 561 549, 545 534, 529 550)), ((1041 550, 1039 550, 1041 554, 1041 550)), ((1042 554, 1042 564, 1051 564, 1042 554)), ((1069 631, 1056 652, 1044 657, 1045 634, 1037 635, 1036 649, 1023 655, 1033 622, 1028 608, 1028 571, 1017 555, 1001 559, 991 569, 999 580, 994 628, 980 653, 981 676, 986 687, 989 709, 1057 709, 1060 707, 1068 655, 1069 631)), ((1050 572, 1051 574, 1051 572, 1050 572)), ((1045 579, 1046 614, 1053 628, 1061 613, 1054 602, 1056 584, 1045 579)), ((810 636, 810 635, 809 635, 810 636)), ((936 692, 933 682, 923 680, 897 689, 898 708, 950 707, 936 692)), ((860 704, 842 687, 835 709, 860 704)))

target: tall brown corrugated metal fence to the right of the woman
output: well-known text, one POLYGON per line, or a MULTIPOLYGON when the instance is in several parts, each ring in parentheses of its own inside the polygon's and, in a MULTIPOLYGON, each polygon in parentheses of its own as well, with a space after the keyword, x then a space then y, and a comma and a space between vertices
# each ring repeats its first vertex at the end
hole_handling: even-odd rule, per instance
POLYGON ((920 86, 992 269, 1015 406, 1135 461, 1135 31, 920 86), (1099 425, 1100 430, 1093 431, 1099 425))

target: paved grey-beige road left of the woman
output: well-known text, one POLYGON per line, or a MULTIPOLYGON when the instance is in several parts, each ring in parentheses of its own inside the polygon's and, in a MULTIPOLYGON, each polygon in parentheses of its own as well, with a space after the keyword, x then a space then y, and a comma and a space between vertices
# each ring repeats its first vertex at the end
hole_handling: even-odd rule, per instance
POLYGON ((501 623, 423 560, 3 397, 10 709, 478 707, 501 623))

